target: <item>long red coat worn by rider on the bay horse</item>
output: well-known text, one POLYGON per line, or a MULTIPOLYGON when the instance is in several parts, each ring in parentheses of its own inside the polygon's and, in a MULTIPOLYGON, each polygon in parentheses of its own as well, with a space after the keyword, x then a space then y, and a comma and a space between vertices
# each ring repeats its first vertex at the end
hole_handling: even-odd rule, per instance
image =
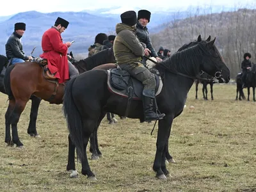
POLYGON ((60 32, 56 28, 45 31, 42 37, 43 54, 40 58, 47 59, 48 68, 54 77, 58 78, 59 83, 63 83, 69 79, 68 74, 68 47, 63 44, 60 32))

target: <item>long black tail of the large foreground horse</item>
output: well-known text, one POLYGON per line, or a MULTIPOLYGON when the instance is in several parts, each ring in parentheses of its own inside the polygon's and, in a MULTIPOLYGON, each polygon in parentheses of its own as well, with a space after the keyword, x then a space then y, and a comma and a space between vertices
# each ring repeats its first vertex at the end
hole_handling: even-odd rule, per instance
POLYGON ((84 159, 84 136, 83 136, 83 121, 77 106, 72 97, 72 87, 76 78, 70 79, 65 85, 63 97, 63 113, 67 120, 68 131, 74 145, 77 148, 77 157, 83 162, 84 159))

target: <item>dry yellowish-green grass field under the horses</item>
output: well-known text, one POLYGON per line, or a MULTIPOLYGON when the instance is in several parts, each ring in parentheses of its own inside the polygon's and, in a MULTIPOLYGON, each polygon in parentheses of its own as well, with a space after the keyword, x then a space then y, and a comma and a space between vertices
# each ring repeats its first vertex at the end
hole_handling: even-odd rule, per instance
POLYGON ((167 180, 156 179, 152 170, 157 130, 151 136, 154 124, 139 120, 118 118, 118 124, 109 125, 104 118, 99 128, 103 157, 89 160, 96 181, 81 175, 77 161, 78 179, 65 171, 68 131, 62 105, 42 102, 41 138, 31 138, 26 133, 29 101, 18 129, 25 148, 6 147, 8 103, 0 93, 0 191, 256 191, 255 102, 235 101, 231 84, 215 84, 214 100, 205 101, 201 88, 198 100, 191 88, 187 108, 173 122, 169 148, 177 163, 167 164, 172 175, 167 180))

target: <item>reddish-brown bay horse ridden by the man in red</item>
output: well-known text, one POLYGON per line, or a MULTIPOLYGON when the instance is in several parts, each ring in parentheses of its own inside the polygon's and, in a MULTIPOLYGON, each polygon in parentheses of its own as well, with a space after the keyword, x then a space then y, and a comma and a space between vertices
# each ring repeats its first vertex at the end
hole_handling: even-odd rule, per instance
MULTIPOLYGON (((72 61, 74 62, 73 65, 79 68, 79 72, 81 73, 102 65, 105 62, 115 62, 115 57, 110 54, 109 49, 106 49, 93 55, 90 58, 92 62, 86 62, 82 65, 81 61, 72 61)), ((103 67, 102 69, 108 68, 103 67)), ((6 131, 4 141, 7 145, 15 144, 17 147, 23 147, 22 142, 19 140, 17 124, 29 98, 36 96, 37 98, 49 101, 50 104, 62 104, 64 84, 45 79, 43 77, 43 68, 38 63, 31 61, 9 66, 6 69, 3 83, 4 90, 9 96, 9 105, 5 115, 6 131), (12 125, 12 136, 10 125, 12 125)), ((36 109, 38 111, 40 100, 38 100, 37 104, 36 109)), ((34 112, 33 108, 33 120, 36 121, 37 113, 34 112)), ((31 127, 36 131, 35 126, 31 127)))

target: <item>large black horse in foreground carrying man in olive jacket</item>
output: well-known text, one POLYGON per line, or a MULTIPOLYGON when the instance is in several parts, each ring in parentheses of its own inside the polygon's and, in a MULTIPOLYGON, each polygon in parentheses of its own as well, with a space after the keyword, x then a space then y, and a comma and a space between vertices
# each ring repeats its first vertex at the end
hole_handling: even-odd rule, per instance
MULTIPOLYGON (((163 120, 159 120, 153 166, 159 179, 166 179, 166 175, 169 175, 165 157, 172 122, 182 113, 196 75, 204 70, 214 77, 218 74, 216 78, 219 83, 228 83, 230 80, 230 70, 216 49, 215 40, 202 40, 193 47, 176 52, 171 58, 157 65, 164 86, 156 100, 159 110, 166 115, 163 120)), ((88 175, 91 179, 95 179, 95 175, 90 170, 86 155, 90 135, 99 126, 106 111, 122 116, 127 112, 127 98, 109 92, 107 77, 106 70, 90 70, 81 74, 67 83, 63 98, 64 114, 70 132, 69 149, 77 147, 77 154, 82 163, 82 174, 88 175)), ((140 118, 143 121, 142 101, 132 100, 127 114, 129 118, 140 118)), ((74 154, 68 155, 67 169, 76 170, 74 154)))

